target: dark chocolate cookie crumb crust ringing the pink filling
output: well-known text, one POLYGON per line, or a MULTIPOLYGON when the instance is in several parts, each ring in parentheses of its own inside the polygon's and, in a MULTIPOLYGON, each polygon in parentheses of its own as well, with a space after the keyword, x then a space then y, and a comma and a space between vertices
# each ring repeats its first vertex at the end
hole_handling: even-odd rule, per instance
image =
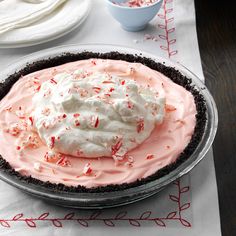
POLYGON ((23 176, 19 172, 15 171, 10 166, 10 164, 4 159, 4 157, 0 155, 0 170, 1 171, 4 171, 7 174, 21 181, 24 181, 29 184, 41 186, 53 192, 87 192, 87 193, 112 192, 112 191, 119 191, 119 190, 124 190, 128 188, 140 186, 150 181, 161 178, 164 175, 176 169, 178 166, 180 166, 185 160, 187 160, 191 156, 191 154, 194 152, 199 142, 201 141, 201 138, 205 130, 205 125, 207 121, 205 99, 203 95, 191 84, 192 82, 191 79, 185 77, 179 71, 177 71, 176 69, 172 67, 167 67, 161 63, 157 63, 153 61, 150 58, 142 57, 142 54, 131 55, 131 54, 122 54, 119 52, 94 53, 94 52, 84 51, 77 54, 63 53, 60 56, 56 56, 56 57, 48 58, 44 60, 39 60, 30 64, 27 64, 24 68, 10 75, 8 78, 5 79, 4 82, 0 83, 0 99, 2 99, 9 92, 13 84, 21 76, 30 74, 38 70, 62 65, 68 62, 85 60, 85 59, 90 59, 90 58, 113 59, 113 60, 123 60, 123 61, 128 61, 128 62, 142 63, 143 65, 146 65, 147 67, 153 70, 161 72, 162 74, 170 78, 174 83, 184 87, 186 90, 192 93, 192 95, 194 96, 194 101, 195 101, 196 110, 197 110, 196 126, 195 126, 194 133, 192 135, 192 138, 189 144, 183 150, 183 152, 180 153, 176 161, 174 163, 171 163, 163 167, 162 169, 158 170, 154 174, 146 178, 136 180, 132 183, 123 183, 120 185, 116 184, 116 185, 107 185, 107 186, 92 187, 92 188, 86 188, 81 185, 74 187, 74 186, 67 186, 64 184, 54 184, 49 181, 44 182, 44 181, 38 180, 31 176, 23 176))

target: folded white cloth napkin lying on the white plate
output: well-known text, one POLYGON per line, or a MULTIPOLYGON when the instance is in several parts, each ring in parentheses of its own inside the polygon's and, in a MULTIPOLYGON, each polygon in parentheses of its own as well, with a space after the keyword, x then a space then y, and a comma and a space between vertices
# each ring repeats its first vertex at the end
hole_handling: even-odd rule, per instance
POLYGON ((48 14, 67 0, 31 1, 5 0, 0 2, 0 34, 30 25, 48 14))

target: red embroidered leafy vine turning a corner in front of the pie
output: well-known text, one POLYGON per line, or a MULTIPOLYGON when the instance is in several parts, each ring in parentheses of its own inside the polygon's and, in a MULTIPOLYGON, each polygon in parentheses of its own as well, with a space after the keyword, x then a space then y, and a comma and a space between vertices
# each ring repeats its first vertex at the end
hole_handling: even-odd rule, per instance
POLYGON ((154 223, 159 227, 166 227, 169 221, 179 222, 184 227, 191 227, 191 223, 182 217, 182 212, 190 207, 190 203, 182 203, 181 196, 189 191, 189 186, 182 187, 180 180, 174 182, 177 194, 169 195, 171 201, 176 202, 177 210, 172 211, 165 217, 153 216, 151 211, 145 211, 137 217, 128 217, 127 211, 121 211, 113 217, 103 216, 102 211, 95 211, 89 217, 77 217, 75 212, 70 212, 64 217, 52 218, 49 212, 42 213, 39 217, 24 217, 23 213, 15 215, 13 218, 0 219, 2 227, 10 228, 16 223, 25 223, 30 228, 36 228, 40 222, 49 222, 51 226, 61 228, 66 222, 78 223, 82 227, 89 227, 93 222, 99 222, 108 227, 115 227, 118 222, 127 222, 130 226, 140 227, 144 222, 154 223))

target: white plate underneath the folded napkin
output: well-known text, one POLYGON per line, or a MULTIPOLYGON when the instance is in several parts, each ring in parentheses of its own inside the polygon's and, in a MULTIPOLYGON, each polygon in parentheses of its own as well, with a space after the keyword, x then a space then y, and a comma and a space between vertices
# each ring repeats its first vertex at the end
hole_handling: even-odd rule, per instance
POLYGON ((90 0, 68 0, 43 20, 0 35, 0 48, 32 46, 59 38, 85 20, 90 5, 90 0))

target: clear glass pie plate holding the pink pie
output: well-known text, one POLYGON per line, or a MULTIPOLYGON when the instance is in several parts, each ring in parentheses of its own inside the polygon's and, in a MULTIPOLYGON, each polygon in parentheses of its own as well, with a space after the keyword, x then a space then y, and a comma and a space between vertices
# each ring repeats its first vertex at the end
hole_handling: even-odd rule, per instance
POLYGON ((158 193, 171 182, 175 181, 176 179, 191 171, 204 158, 216 134, 218 124, 217 108, 214 99, 212 98, 211 94, 209 93, 203 82, 201 82, 201 80, 191 71, 189 71, 187 68, 180 64, 171 62, 164 58, 156 57, 155 55, 143 51, 138 51, 132 48, 124 48, 121 46, 103 44, 70 45, 50 48, 21 58, 17 62, 12 63, 8 68, 6 68, 5 71, 1 72, 0 79, 1 81, 3 81, 9 75, 25 67, 28 63, 36 62, 42 59, 52 58, 63 53, 79 53, 83 51, 101 53, 117 51, 125 54, 128 53, 133 55, 141 55, 143 57, 151 58, 156 62, 164 63, 168 67, 174 67, 186 77, 191 78, 192 84, 204 96, 207 107, 207 122, 205 132, 196 150, 186 161, 180 164, 169 174, 166 174, 161 178, 147 182, 140 186, 120 191, 97 193, 76 193, 65 191, 55 192, 52 189, 47 189, 44 186, 22 181, 16 178, 15 176, 5 173, 3 170, 0 171, 1 180, 26 193, 47 200, 53 204, 84 209, 108 208, 139 201, 155 193, 158 193))

